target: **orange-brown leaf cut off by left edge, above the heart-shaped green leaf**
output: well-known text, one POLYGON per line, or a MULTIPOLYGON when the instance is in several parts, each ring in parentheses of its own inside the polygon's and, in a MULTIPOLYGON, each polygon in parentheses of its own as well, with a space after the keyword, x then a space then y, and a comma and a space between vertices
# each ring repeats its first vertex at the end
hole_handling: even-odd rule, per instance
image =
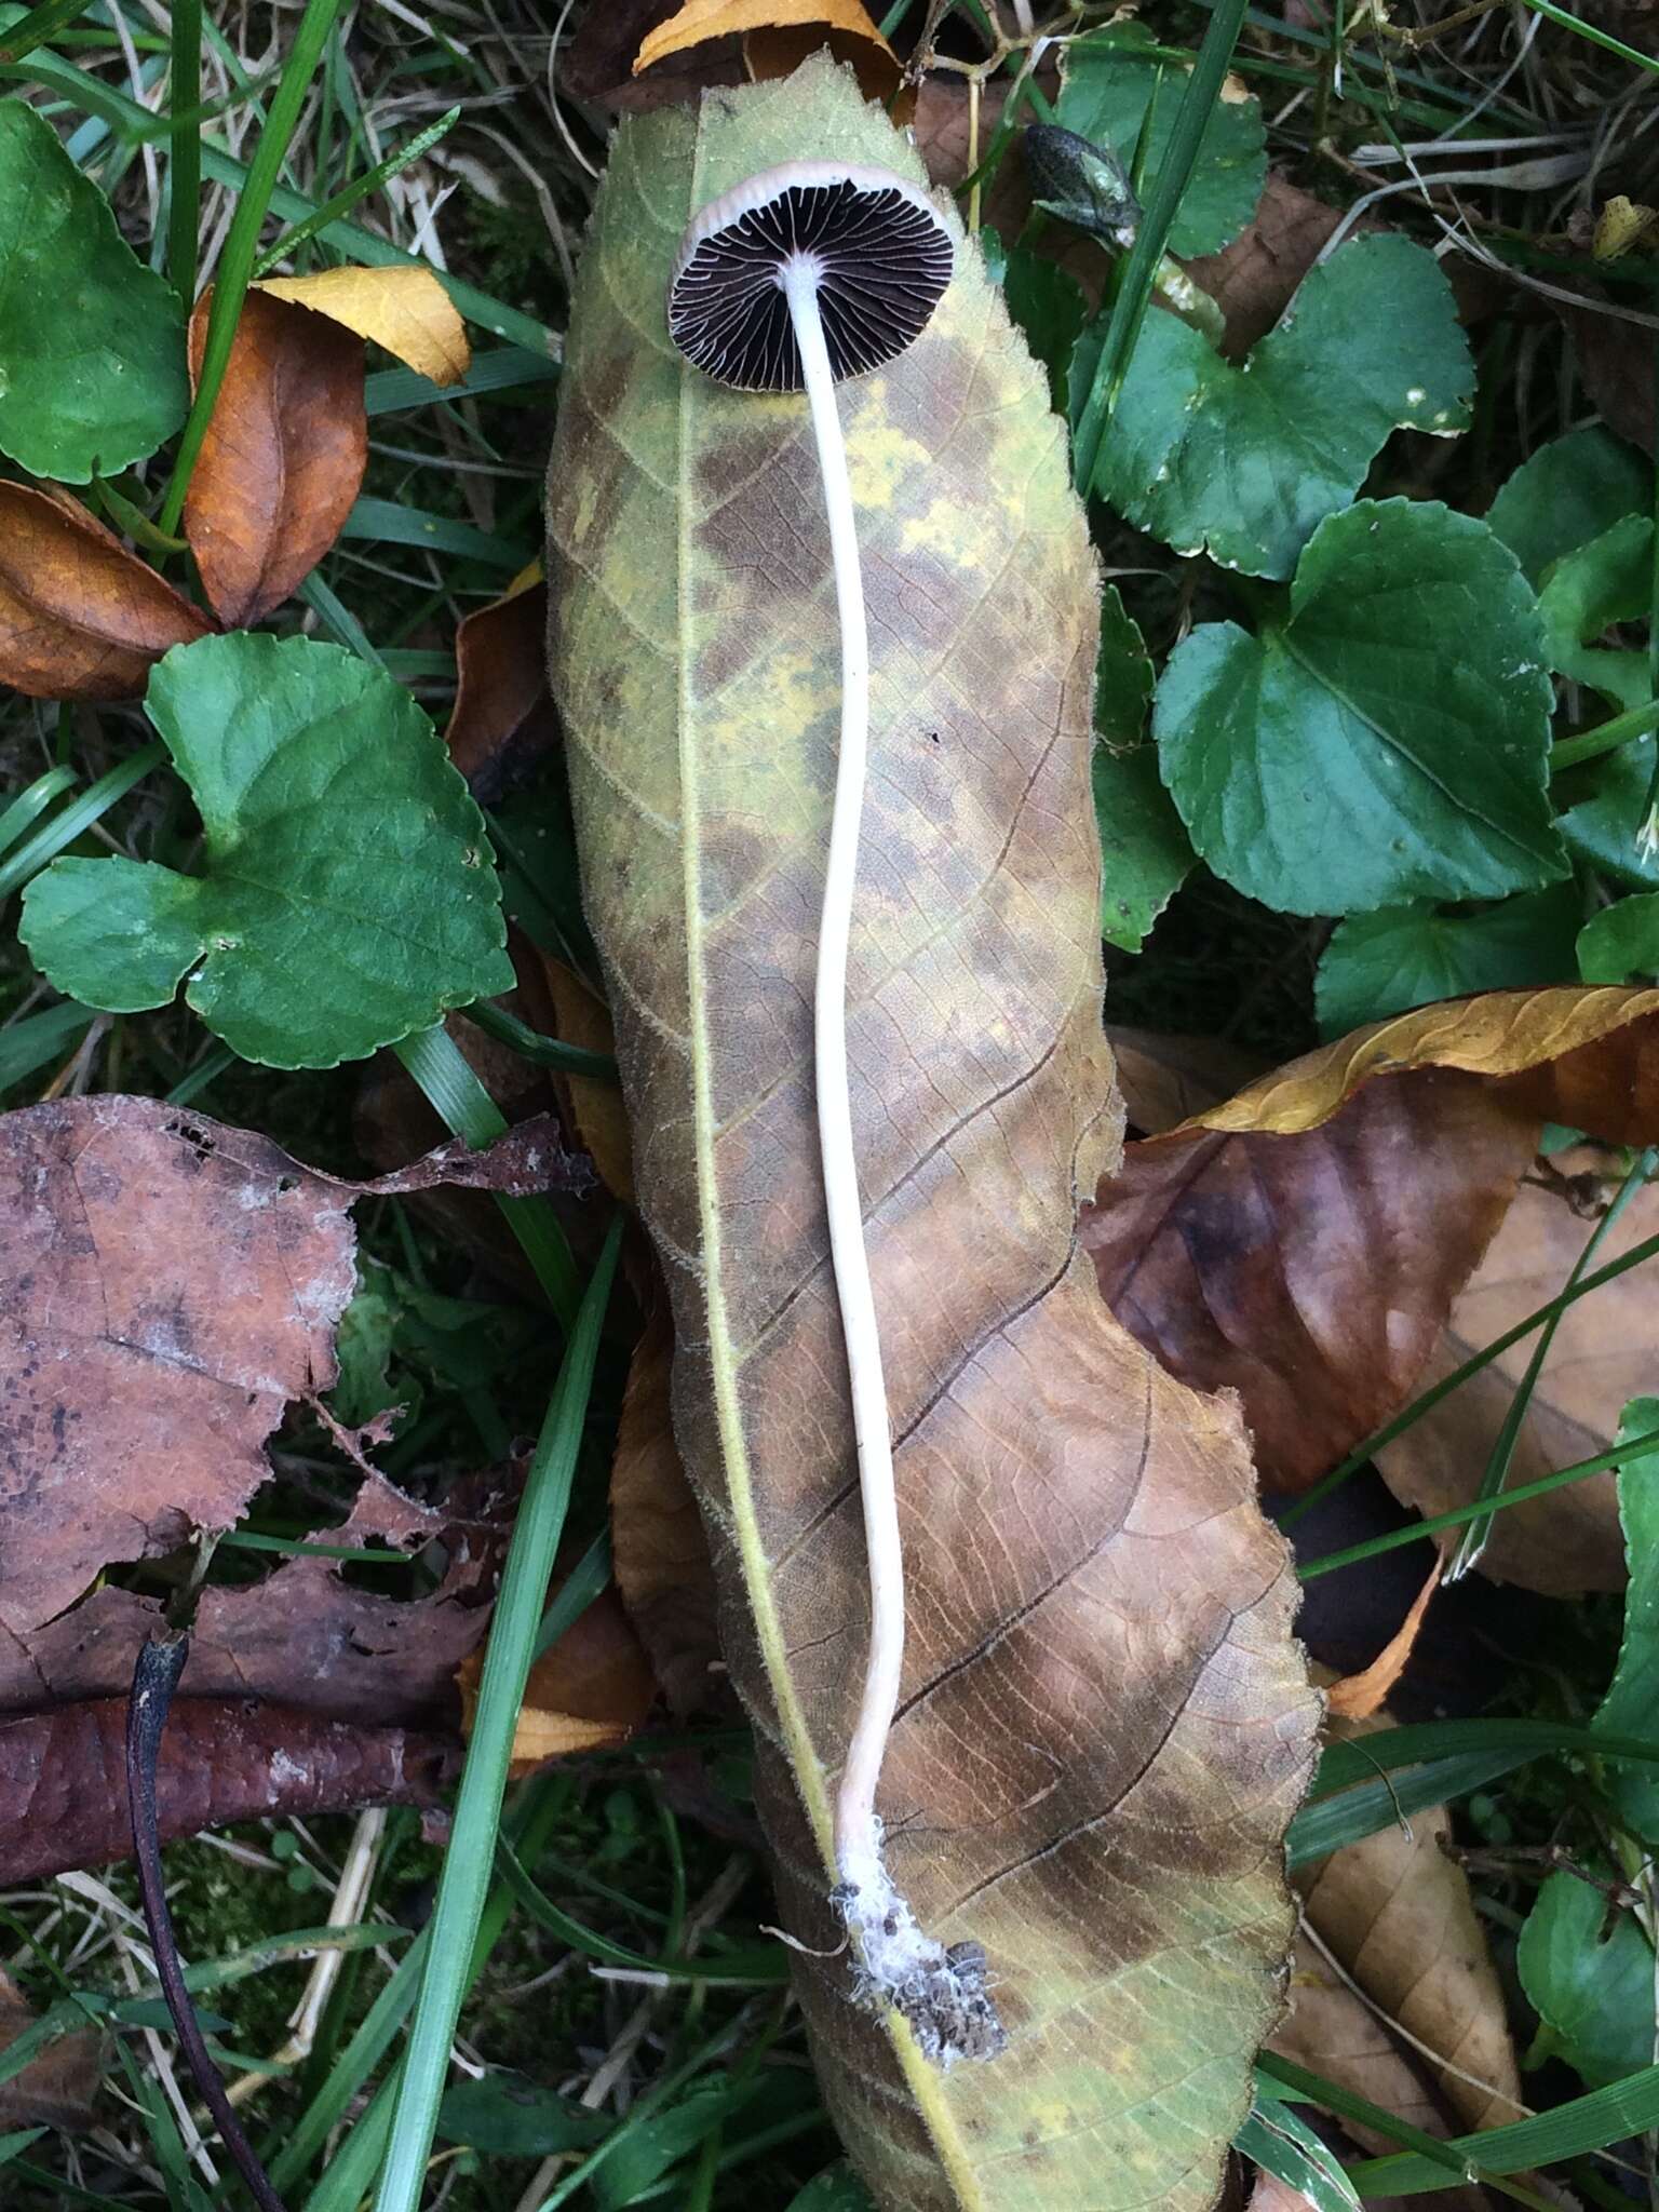
POLYGON ((0 482, 0 684, 31 699, 137 699, 212 624, 69 493, 0 482))

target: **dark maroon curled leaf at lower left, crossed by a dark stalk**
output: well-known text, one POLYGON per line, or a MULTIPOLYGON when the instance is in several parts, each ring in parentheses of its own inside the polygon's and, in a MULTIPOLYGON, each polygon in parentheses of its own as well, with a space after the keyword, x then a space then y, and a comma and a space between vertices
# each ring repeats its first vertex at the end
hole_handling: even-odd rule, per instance
MULTIPOLYGON (((0 1721, 0 1882, 131 1854, 124 1739, 124 1697, 0 1721)), ((442 1736, 257 1699, 181 1697, 157 1767, 161 1840, 268 1814, 436 1805, 458 1765, 442 1736)))

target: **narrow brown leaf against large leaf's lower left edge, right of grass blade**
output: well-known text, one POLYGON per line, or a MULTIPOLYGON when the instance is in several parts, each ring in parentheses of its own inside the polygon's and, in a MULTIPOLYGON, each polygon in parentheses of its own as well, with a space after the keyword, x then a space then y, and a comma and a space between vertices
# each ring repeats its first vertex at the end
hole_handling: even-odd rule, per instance
POLYGON ((710 1703, 719 1663, 714 1568, 668 1413, 675 1332, 653 1307, 622 1394, 611 1462, 611 1551, 622 1601, 675 1714, 710 1703))

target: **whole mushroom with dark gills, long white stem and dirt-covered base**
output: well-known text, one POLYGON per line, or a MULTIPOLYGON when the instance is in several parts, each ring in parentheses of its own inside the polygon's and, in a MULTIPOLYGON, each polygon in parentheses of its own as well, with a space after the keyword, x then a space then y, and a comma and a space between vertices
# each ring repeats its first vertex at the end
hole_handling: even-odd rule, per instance
POLYGON ((787 161, 690 223, 668 288, 668 334, 741 392, 805 392, 841 615, 841 754, 818 927, 814 1062, 830 1259, 847 1347, 869 1562, 869 1655, 834 1812, 832 1891, 863 1962, 860 1995, 896 2004, 922 2051, 991 2057, 1002 2028, 978 1944, 945 1951, 887 1874, 876 1783, 905 1659, 894 1451, 869 1287, 847 1091, 847 936, 869 752, 869 628, 836 383, 902 354, 951 281, 951 234, 925 192, 885 168, 787 161))

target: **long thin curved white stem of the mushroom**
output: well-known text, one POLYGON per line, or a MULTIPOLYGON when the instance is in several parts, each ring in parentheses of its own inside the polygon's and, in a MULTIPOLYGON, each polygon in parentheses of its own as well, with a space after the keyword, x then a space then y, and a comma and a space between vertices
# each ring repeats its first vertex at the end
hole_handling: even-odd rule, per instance
POLYGON ((894 1447, 887 1429, 887 1385, 880 1371, 880 1336, 876 1298, 869 1287, 847 1088, 847 936, 869 754, 869 630, 852 487, 847 484, 847 447, 841 438, 836 383, 818 321, 816 265, 807 259, 792 261, 783 276, 783 292, 790 301, 812 429, 818 440, 823 507, 830 520, 830 553, 841 613, 841 752, 818 925, 814 1055, 830 1259, 841 1301, 841 1332, 847 1345, 852 1427, 858 1444, 858 1489, 865 1504, 865 1553, 869 1557, 869 1657, 858 1721, 836 1792, 836 1869, 845 1882, 865 1885, 880 1869, 876 1783, 898 1710, 898 1677, 905 1663, 905 1564, 898 1542, 894 1447))

